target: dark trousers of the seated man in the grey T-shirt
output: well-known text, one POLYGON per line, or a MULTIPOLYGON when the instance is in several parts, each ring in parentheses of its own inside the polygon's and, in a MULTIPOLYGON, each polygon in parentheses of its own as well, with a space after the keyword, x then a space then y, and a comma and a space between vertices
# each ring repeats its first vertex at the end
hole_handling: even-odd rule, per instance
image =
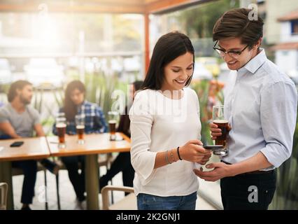
POLYGON ((24 173, 21 203, 32 204, 37 173, 36 160, 12 162, 12 167, 22 169, 22 172, 24 173))

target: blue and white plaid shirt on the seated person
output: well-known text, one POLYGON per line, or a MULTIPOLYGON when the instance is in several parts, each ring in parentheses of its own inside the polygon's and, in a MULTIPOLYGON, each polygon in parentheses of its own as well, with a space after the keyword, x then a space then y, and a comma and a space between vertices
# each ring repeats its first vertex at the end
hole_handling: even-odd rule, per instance
MULTIPOLYGON (((59 109, 59 112, 63 112, 63 109, 59 109)), ((85 133, 104 133, 108 131, 104 113, 100 106, 84 101, 83 104, 78 106, 78 113, 85 115, 85 133)), ((56 125, 52 128, 53 134, 57 135, 56 125)), ((67 134, 76 134, 76 123, 75 121, 67 121, 66 126, 67 134)))

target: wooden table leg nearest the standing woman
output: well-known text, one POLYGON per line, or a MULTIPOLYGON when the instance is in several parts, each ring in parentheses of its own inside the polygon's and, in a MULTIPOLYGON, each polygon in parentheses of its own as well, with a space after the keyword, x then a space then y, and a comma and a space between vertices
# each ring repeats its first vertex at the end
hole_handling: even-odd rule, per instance
POLYGON ((99 165, 97 161, 97 154, 86 155, 85 180, 87 209, 99 210, 99 165))

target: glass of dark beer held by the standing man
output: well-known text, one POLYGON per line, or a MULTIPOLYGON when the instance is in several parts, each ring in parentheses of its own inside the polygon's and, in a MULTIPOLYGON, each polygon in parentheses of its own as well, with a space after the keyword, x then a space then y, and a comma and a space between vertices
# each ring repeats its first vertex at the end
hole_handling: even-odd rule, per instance
POLYGON ((227 155, 227 134, 228 134, 228 124, 229 121, 225 117, 225 113, 227 113, 227 106, 213 106, 213 123, 218 125, 218 128, 222 130, 222 135, 216 137, 215 145, 221 145, 222 148, 213 151, 214 155, 227 155))

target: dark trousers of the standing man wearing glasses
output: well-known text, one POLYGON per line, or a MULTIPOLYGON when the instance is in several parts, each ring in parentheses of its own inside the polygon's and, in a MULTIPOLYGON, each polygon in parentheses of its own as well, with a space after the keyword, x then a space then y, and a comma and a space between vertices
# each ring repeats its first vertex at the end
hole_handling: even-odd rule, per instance
POLYGON ((267 210, 276 190, 276 171, 225 177, 220 188, 225 210, 267 210))

